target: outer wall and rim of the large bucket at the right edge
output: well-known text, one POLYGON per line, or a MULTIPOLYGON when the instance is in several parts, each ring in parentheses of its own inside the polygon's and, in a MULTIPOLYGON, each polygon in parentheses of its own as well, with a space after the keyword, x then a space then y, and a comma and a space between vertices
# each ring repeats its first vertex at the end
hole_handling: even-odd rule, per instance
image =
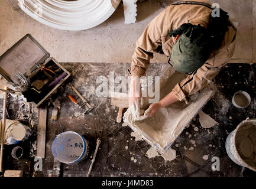
MULTIPOLYGON (((244 159, 241 157, 241 152, 239 154, 238 151, 238 146, 236 145, 236 136, 237 133, 240 132, 241 128, 247 129, 245 127, 252 127, 252 128, 256 128, 256 119, 246 119, 243 120, 241 123, 239 123, 239 125, 236 127, 236 129, 234 131, 232 131, 231 133, 229 133, 228 138, 226 138, 226 143, 225 143, 225 147, 226 147, 226 152, 229 156, 229 158, 232 159, 232 161, 234 161, 236 164, 241 165, 242 167, 247 167, 252 171, 256 171, 256 165, 249 165, 247 162, 244 161, 244 159), (248 125, 249 124, 249 125, 248 125)), ((242 131, 241 131, 242 132, 242 131)))

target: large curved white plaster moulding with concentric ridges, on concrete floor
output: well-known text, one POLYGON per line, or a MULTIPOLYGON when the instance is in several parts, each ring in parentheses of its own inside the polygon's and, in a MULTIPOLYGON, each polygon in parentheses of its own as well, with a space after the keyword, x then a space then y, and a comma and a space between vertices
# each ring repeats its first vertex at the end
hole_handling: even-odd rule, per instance
POLYGON ((30 17, 60 30, 93 28, 115 11, 121 0, 18 0, 19 6, 30 17))

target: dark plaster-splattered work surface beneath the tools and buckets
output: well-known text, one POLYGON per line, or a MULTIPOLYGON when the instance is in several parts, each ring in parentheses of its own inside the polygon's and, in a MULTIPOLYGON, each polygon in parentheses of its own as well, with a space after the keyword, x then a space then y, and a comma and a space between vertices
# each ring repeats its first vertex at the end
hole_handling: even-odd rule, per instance
MULTIPOLYGON (((96 145, 96 139, 101 138, 102 143, 93 166, 92 177, 256 177, 256 173, 236 165, 229 159, 225 150, 225 140, 238 123, 246 118, 255 118, 256 115, 256 67, 255 64, 228 64, 216 77, 217 92, 203 108, 219 122, 219 125, 210 129, 200 126, 199 117, 192 121, 189 128, 176 139, 172 148, 176 149, 177 158, 173 161, 164 161, 162 157, 148 159, 145 153, 150 145, 145 141, 135 141, 131 136, 132 129, 116 123, 118 108, 110 105, 109 97, 97 97, 95 94, 96 78, 108 77, 109 71, 115 71, 115 76, 127 76, 128 63, 110 63, 108 67, 102 63, 63 63, 64 67, 72 73, 71 83, 94 106, 90 113, 83 114, 69 99, 72 90, 67 85, 59 93, 61 109, 59 119, 52 122, 51 112, 53 106, 48 108, 46 158, 43 159, 43 171, 37 172, 37 177, 48 177, 53 173, 53 154, 51 145, 54 138, 64 131, 75 131, 82 134, 89 141, 89 157, 76 165, 62 165, 61 177, 85 177, 96 145), (231 103, 232 95, 237 90, 245 90, 251 94, 251 104, 245 109, 238 109, 231 103), (194 128, 199 128, 195 131, 194 128), (193 146, 190 140, 196 142, 193 146), (128 149, 125 149, 128 146, 128 149), (186 149, 185 149, 186 146, 186 149), (189 148, 193 146, 193 150, 189 148), (203 155, 209 155, 204 160, 203 155), (131 160, 134 157, 137 162, 131 160), (219 157, 220 171, 212 171, 212 157, 219 157)), ((148 76, 158 75, 167 64, 151 64, 148 76)), ((9 99, 8 112, 11 119, 27 122, 26 106, 21 101, 9 99), (23 112, 23 113, 21 113, 23 112)), ((37 113, 33 117, 36 122, 37 113)), ((36 123, 35 123, 36 125, 36 123)), ((34 128, 36 131, 36 128, 34 128)), ((35 135, 30 139, 36 139, 35 135)), ((26 155, 19 161, 11 158, 10 151, 14 146, 5 148, 5 168, 11 170, 24 170, 24 177, 33 174, 33 158, 28 158, 29 143, 21 146, 26 149, 26 155)))

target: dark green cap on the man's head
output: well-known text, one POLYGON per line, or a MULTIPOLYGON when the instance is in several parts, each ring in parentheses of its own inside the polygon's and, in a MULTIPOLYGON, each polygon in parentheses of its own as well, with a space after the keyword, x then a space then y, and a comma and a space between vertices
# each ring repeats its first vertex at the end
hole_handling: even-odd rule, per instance
POLYGON ((180 35, 171 50, 171 64, 182 73, 196 71, 210 55, 210 37, 206 28, 192 27, 180 35))

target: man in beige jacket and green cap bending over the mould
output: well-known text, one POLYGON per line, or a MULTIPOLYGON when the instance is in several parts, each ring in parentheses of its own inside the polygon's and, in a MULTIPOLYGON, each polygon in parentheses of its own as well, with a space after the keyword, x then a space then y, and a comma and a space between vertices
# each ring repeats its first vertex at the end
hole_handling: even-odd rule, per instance
POLYGON ((130 90, 134 95, 129 97, 130 104, 138 99, 139 92, 132 85, 136 83, 135 76, 145 75, 154 53, 162 51, 168 63, 186 73, 187 78, 150 105, 150 117, 178 100, 188 103, 190 94, 205 87, 219 73, 234 54, 236 28, 225 11, 213 9, 208 1, 179 1, 147 25, 132 56, 130 90))

